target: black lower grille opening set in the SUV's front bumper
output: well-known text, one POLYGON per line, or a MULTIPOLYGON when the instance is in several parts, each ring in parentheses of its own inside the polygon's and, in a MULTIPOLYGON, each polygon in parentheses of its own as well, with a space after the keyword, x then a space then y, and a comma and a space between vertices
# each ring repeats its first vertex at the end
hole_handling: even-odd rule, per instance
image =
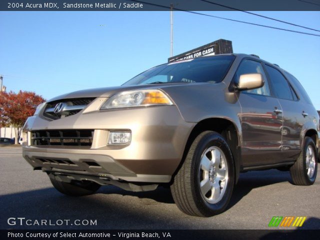
POLYGON ((94 130, 38 130, 31 132, 32 145, 91 146, 94 130))

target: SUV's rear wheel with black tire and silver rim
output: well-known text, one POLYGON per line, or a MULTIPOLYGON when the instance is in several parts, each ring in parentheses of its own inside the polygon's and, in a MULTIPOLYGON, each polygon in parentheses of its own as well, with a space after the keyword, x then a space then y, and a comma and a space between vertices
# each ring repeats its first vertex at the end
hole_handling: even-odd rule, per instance
POLYGON ((290 175, 294 185, 312 185, 317 172, 317 153, 312 138, 303 139, 300 155, 290 167, 290 175), (313 169, 313 170, 312 170, 313 169))

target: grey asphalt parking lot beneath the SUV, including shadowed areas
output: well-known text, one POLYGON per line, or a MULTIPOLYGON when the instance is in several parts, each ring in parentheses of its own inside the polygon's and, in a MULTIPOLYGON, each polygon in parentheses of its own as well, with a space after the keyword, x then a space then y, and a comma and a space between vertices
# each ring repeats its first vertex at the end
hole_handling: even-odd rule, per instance
MULTIPOLYGON (((170 190, 129 192, 103 186, 96 194, 64 196, 47 175, 33 171, 20 147, 0 147, 1 229, 269 229, 272 216, 306 216, 301 228, 320 228, 320 179, 312 186, 295 186, 288 172, 241 173, 229 208, 210 218, 185 215, 170 190), (51 220, 96 220, 95 225, 9 225, 9 217, 51 220)), ((277 227, 282 228, 283 227, 277 227)), ((289 227, 293 229, 294 227, 289 227)), ((287 228, 286 228, 287 229, 287 228)))

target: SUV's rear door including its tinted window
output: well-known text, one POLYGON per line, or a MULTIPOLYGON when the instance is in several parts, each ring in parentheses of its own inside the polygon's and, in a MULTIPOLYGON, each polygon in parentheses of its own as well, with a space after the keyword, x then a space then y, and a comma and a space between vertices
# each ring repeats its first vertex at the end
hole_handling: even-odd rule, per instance
POLYGON ((306 120, 305 104, 292 89, 285 76, 275 67, 265 64, 272 93, 278 98, 283 110, 281 153, 282 161, 290 160, 300 152, 300 133, 306 120))

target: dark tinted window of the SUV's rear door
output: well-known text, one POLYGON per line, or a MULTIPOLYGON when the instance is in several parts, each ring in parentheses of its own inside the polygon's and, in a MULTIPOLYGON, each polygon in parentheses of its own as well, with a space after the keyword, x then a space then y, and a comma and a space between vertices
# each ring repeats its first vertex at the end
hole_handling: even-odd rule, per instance
POLYGON ((270 76, 270 83, 275 96, 283 99, 293 100, 290 86, 282 73, 272 66, 265 65, 270 76))

